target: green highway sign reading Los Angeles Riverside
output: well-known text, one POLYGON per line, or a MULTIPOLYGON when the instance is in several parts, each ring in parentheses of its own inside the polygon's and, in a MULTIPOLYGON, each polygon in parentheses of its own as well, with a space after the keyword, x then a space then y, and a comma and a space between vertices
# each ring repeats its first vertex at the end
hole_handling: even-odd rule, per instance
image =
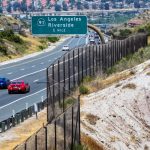
POLYGON ((86 16, 32 16, 32 34, 86 34, 86 16))

